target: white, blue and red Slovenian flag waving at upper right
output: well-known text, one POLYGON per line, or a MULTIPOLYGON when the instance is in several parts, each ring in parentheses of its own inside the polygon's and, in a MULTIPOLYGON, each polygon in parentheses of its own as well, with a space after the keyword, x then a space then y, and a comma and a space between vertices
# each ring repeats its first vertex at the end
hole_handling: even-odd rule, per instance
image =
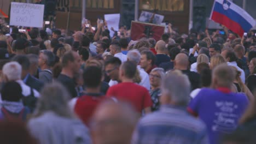
POLYGON ((243 36, 255 26, 255 20, 245 10, 228 0, 215 0, 210 19, 243 36))

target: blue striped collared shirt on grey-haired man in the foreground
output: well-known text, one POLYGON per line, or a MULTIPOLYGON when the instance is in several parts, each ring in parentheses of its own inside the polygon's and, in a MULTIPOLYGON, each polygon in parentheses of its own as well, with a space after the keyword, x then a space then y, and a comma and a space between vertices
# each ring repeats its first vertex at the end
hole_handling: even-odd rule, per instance
POLYGON ((208 143, 206 126, 185 107, 163 105, 139 121, 132 143, 208 143))

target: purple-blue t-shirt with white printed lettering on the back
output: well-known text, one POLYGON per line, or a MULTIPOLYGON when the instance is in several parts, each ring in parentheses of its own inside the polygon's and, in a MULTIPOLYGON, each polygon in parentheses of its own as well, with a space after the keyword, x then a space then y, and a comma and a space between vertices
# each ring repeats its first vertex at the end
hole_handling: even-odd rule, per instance
POLYGON ((247 105, 248 98, 245 94, 231 93, 226 88, 203 88, 190 101, 188 111, 205 122, 210 143, 216 144, 222 134, 236 129, 247 105))

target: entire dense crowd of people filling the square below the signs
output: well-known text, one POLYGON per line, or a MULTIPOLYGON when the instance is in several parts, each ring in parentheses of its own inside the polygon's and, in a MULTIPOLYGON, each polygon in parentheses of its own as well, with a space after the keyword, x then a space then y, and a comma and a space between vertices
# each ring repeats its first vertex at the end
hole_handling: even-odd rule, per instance
POLYGON ((256 143, 256 31, 0 25, 2 143, 256 143))

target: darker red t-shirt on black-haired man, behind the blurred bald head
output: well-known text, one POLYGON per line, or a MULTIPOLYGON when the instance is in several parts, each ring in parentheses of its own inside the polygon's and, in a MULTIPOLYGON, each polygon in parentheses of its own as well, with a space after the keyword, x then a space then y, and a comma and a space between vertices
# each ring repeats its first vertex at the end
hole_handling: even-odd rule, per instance
POLYGON ((90 118, 94 113, 98 104, 101 101, 106 100, 104 95, 84 95, 77 99, 74 106, 74 111, 77 113, 79 118, 86 124, 89 124, 90 118))

